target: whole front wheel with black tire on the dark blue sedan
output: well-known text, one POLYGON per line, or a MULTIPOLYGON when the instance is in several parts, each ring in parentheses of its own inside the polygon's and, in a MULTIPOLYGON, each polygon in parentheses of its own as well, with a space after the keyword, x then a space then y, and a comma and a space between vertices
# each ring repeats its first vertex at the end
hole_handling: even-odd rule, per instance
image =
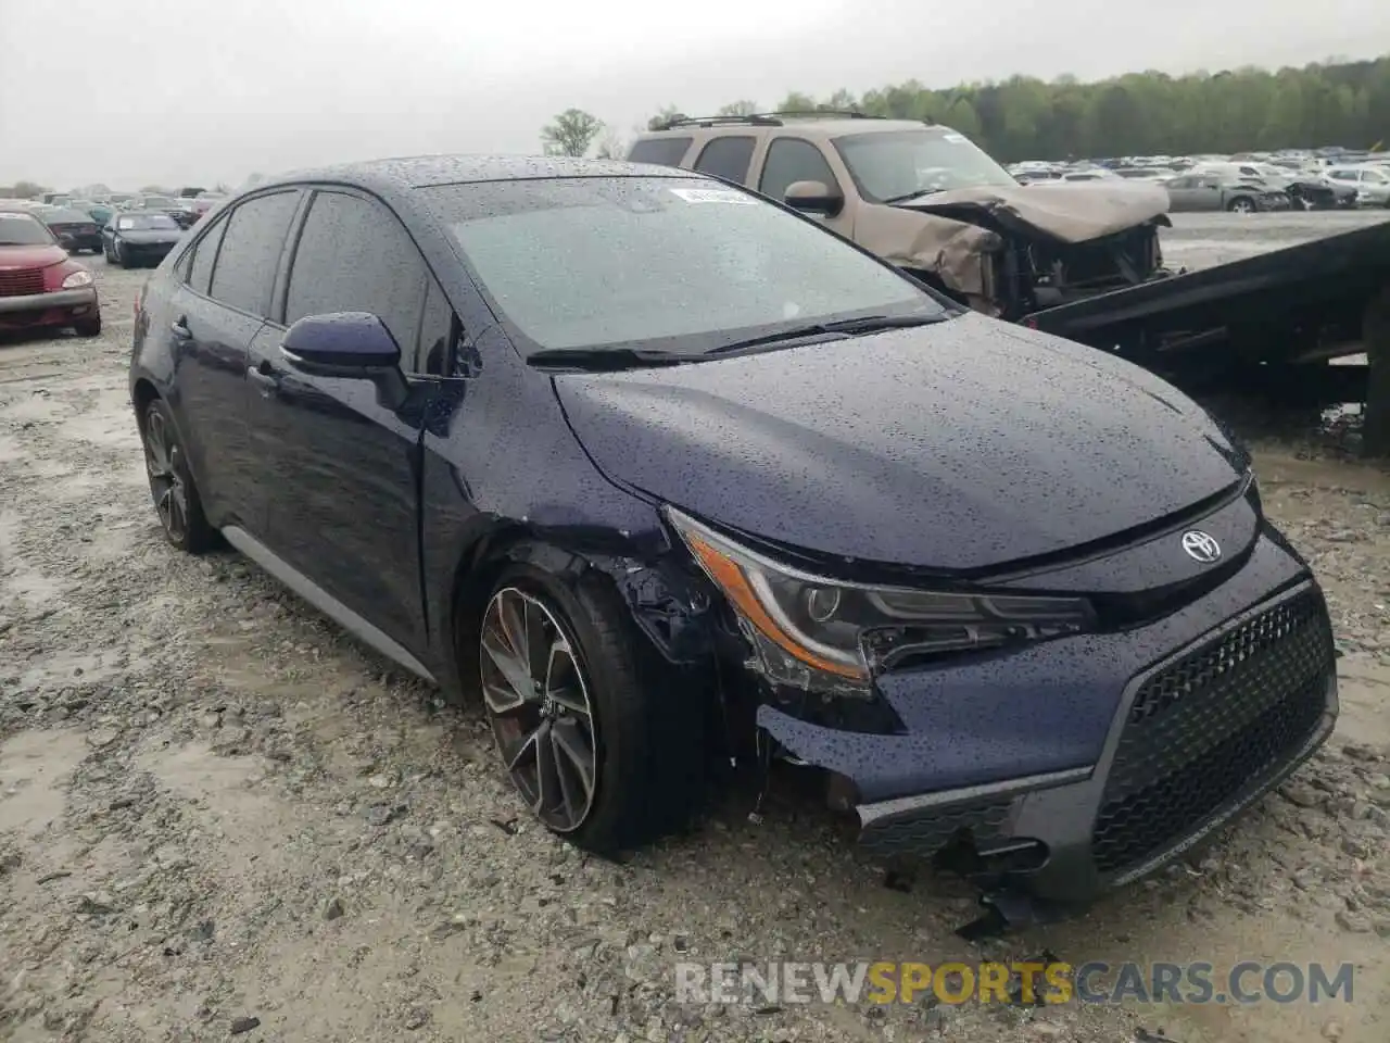
POLYGON ((682 826, 702 790, 703 705, 663 686, 606 576, 502 572, 482 612, 484 706, 546 829, 612 855, 682 826))

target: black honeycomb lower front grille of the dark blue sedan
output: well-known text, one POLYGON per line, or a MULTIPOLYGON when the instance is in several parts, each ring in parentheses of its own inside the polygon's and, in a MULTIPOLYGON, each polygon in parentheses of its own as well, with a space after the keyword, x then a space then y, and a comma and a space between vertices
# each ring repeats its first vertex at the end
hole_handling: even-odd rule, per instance
POLYGON ((1293 757, 1322 719, 1332 663, 1327 612, 1308 591, 1150 677, 1095 818, 1097 869, 1172 847, 1293 757))

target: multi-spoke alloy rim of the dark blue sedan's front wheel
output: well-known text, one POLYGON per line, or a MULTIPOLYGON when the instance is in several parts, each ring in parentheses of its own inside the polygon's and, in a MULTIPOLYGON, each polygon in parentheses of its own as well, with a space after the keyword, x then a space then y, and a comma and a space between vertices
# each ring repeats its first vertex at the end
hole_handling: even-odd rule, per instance
POLYGON ((594 807, 598 755, 571 638, 545 602, 503 587, 488 602, 478 652, 482 698, 512 782, 541 822, 573 833, 594 807))

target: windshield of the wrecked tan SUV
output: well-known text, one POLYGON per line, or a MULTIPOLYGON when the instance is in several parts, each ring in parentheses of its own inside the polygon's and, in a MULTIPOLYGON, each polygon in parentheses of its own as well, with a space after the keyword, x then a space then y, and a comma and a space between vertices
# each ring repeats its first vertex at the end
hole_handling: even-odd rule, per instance
POLYGON ((1016 188, 1017 181, 963 134, 927 129, 847 134, 835 149, 873 203, 952 188, 1016 188))

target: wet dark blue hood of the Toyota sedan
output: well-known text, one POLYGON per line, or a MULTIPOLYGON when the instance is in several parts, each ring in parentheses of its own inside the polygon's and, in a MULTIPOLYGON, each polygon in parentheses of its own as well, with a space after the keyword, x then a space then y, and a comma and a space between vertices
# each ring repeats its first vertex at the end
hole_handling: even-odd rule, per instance
POLYGON ((976 314, 555 388, 614 481, 763 540, 945 572, 1123 533, 1244 470, 1152 374, 976 314))

